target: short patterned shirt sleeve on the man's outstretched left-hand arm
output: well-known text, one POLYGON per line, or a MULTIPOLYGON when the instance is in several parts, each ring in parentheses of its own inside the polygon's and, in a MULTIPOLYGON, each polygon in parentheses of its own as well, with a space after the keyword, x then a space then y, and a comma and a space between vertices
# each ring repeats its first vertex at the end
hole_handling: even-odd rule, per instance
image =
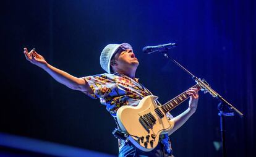
POLYGON ((93 93, 83 93, 94 99, 111 95, 116 88, 116 83, 108 78, 106 74, 92 75, 82 78, 88 83, 93 91, 93 93))

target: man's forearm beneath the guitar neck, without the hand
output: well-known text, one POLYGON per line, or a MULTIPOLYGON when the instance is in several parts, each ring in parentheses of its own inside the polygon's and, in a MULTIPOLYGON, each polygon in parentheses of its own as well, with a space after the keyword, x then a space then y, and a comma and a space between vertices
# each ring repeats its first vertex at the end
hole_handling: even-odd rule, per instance
POLYGON ((194 109, 188 108, 188 109, 186 109, 186 111, 182 112, 178 116, 171 119, 170 121, 174 122, 174 127, 172 130, 170 130, 168 132, 168 135, 173 134, 173 132, 175 132, 177 129, 179 129, 185 122, 187 122, 189 117, 192 116, 192 114, 194 114, 194 112, 195 112, 194 109))

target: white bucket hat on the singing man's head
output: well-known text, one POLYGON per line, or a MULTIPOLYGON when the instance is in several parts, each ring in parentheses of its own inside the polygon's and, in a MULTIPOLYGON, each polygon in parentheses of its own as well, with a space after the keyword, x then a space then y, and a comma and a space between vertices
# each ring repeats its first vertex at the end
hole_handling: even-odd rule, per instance
POLYGON ((117 49, 123 46, 126 49, 132 49, 128 43, 122 44, 109 44, 105 46, 100 54, 100 66, 104 69, 108 74, 111 74, 110 61, 114 54, 117 52, 117 49))

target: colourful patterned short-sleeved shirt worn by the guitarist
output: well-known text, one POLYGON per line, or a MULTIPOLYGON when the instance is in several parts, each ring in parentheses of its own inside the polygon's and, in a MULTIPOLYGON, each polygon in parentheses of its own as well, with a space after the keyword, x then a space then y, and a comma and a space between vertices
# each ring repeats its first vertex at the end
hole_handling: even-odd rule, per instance
MULTIPOLYGON (((113 117, 116 117, 117 109, 121 106, 137 106, 145 96, 152 95, 151 92, 138 82, 138 79, 132 79, 124 74, 99 74, 83 77, 90 85, 93 93, 86 93, 91 98, 100 98, 101 104, 106 106, 106 109, 113 117)), ((169 119, 171 114, 167 114, 169 119)), ((171 153, 171 143, 167 134, 164 134, 161 139, 165 150, 171 153)), ((122 142, 124 144, 124 142, 122 142)), ((121 145, 122 147, 122 145, 121 145)), ((119 147, 119 149, 121 149, 119 147)))

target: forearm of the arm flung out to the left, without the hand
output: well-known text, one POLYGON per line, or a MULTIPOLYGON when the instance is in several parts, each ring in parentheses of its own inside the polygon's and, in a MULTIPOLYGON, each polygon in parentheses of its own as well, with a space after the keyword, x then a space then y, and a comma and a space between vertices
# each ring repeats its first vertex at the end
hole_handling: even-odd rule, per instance
POLYGON ((85 85, 84 80, 74 77, 63 70, 57 69, 50 64, 46 64, 43 69, 46 70, 46 72, 48 72, 48 74, 51 75, 51 77, 53 77, 56 81, 73 90, 80 90, 80 88, 83 88, 85 85))

